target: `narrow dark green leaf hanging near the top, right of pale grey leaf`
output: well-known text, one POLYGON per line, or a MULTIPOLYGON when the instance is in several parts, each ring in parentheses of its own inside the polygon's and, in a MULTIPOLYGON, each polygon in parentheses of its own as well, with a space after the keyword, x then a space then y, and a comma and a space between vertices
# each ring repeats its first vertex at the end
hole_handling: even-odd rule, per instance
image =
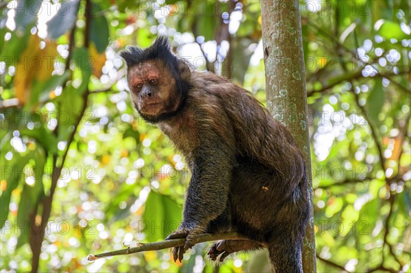
POLYGON ((95 43, 97 51, 102 53, 108 46, 108 22, 101 7, 95 1, 92 3, 92 17, 90 22, 90 40, 95 43))

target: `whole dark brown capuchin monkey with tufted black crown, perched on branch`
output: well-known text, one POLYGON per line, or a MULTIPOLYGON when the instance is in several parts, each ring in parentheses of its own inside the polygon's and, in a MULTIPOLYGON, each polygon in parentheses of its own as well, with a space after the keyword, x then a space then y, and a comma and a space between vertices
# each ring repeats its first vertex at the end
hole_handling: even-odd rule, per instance
POLYGON ((309 214, 306 162, 288 129, 247 90, 190 69, 160 36, 147 49, 127 47, 132 102, 147 122, 169 136, 192 177, 184 220, 166 239, 182 261, 201 233, 238 231, 248 238, 212 244, 223 261, 240 250, 268 248, 272 270, 303 272, 301 252, 309 214))

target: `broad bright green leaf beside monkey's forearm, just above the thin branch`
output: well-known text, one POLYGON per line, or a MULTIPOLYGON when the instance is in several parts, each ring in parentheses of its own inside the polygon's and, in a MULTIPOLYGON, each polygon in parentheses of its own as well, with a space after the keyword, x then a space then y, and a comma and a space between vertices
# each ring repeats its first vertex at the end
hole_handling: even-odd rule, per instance
POLYGON ((156 242, 177 229, 182 221, 182 209, 169 196, 151 190, 145 203, 142 219, 147 225, 145 229, 147 240, 156 242))

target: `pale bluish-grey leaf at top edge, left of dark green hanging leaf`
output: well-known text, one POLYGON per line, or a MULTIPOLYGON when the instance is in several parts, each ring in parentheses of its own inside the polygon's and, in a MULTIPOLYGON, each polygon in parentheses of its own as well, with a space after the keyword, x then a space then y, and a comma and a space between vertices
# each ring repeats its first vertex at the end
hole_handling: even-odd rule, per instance
POLYGON ((73 27, 79 5, 79 0, 62 1, 60 10, 47 22, 47 38, 56 40, 73 27))

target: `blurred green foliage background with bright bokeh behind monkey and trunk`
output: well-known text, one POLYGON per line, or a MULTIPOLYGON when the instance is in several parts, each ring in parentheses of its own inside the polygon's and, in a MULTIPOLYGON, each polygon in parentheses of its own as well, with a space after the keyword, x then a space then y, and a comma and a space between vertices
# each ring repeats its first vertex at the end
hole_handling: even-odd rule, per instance
MULTIPOLYGON (((0 7, 0 269, 30 270, 38 248, 43 272, 213 272, 206 244, 183 264, 168 250, 86 261, 166 237, 190 177, 132 109, 118 52, 167 34, 197 69, 264 103, 259 1, 0 7)), ((410 1, 301 1, 300 11, 318 271, 410 272, 410 1)), ((219 271, 262 271, 265 259, 239 254, 219 271)))

